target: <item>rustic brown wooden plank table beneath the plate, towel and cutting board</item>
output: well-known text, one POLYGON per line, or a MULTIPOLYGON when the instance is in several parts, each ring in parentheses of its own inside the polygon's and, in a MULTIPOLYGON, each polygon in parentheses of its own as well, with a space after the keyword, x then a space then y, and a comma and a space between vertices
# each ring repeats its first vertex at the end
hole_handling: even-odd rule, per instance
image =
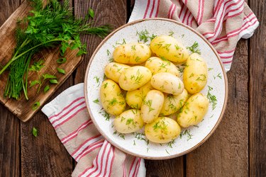
MULTIPOLYGON (((0 25, 23 0, 0 0, 0 25)), ((144 1, 144 0, 143 0, 144 1)), ((89 7, 96 25, 125 24, 130 0, 72 0, 76 16, 89 7)), ((187 155, 164 161, 145 161, 147 176, 266 176, 266 1, 248 0, 260 26, 249 40, 240 40, 228 72, 228 105, 218 129, 201 147, 187 155)), ((100 38, 84 36, 89 52, 53 98, 83 82, 92 52, 100 38)), ((52 99, 52 98, 51 98, 52 99)), ((0 105, 0 176, 70 176, 74 160, 57 138, 52 125, 39 111, 27 123, 20 122, 0 105), (31 130, 38 128, 39 136, 31 130)))

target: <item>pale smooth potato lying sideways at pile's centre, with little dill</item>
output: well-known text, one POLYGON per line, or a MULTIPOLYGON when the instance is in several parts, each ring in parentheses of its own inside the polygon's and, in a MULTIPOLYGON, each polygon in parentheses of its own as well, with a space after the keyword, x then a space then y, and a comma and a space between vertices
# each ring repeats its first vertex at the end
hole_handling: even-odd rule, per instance
POLYGON ((184 90, 184 84, 177 76, 168 72, 160 72, 153 75, 150 83, 162 92, 179 95, 184 90))

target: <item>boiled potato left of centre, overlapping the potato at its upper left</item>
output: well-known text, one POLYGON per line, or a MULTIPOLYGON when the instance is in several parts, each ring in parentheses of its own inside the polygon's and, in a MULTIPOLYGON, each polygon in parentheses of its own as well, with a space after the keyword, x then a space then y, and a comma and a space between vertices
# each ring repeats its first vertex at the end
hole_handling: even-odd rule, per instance
POLYGON ((130 67, 122 72, 119 78, 119 86, 125 91, 133 91, 148 83, 151 77, 152 72, 146 67, 130 67))

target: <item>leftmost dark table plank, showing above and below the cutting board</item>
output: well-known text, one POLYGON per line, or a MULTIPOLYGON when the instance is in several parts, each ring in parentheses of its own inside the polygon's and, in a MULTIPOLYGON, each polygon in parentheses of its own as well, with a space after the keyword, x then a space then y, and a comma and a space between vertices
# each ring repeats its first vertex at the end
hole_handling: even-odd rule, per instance
MULTIPOLYGON (((19 6, 19 0, 0 0, 0 25, 19 6)), ((20 176, 20 122, 0 105, 0 176, 20 176)))

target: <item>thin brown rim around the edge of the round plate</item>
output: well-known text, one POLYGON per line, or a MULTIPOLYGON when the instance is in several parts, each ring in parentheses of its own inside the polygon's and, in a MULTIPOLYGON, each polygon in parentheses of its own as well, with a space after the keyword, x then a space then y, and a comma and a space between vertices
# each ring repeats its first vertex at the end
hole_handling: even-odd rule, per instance
POLYGON ((223 67, 223 64, 221 62, 221 59, 218 55, 218 52, 214 49, 214 47, 211 45, 211 43, 206 40, 206 38, 204 38, 204 36, 202 36, 199 32, 197 32, 196 30, 194 30, 193 28, 191 28, 190 26, 188 25, 184 25, 183 23, 180 23, 178 21, 174 21, 172 19, 168 19, 168 18, 145 18, 145 19, 140 19, 140 20, 137 20, 137 21, 133 21, 131 23, 126 23, 125 25, 121 25, 121 27, 119 28, 116 28, 116 30, 113 30, 109 35, 106 36, 106 38, 104 38, 104 40, 101 41, 101 43, 96 47, 96 49, 94 50, 93 54, 92 54, 92 57, 90 57, 89 59, 89 63, 87 65, 87 69, 86 69, 86 72, 85 72, 85 78, 84 78, 84 97, 85 97, 85 101, 86 101, 86 107, 87 107, 87 110, 89 110, 89 116, 92 120, 92 122, 94 123, 94 126, 96 127, 96 129, 101 133, 101 135, 108 141, 110 142, 114 147, 120 149, 122 152, 125 152, 126 154, 130 154, 132 156, 138 156, 138 157, 141 157, 143 159, 150 159, 150 160, 162 160, 162 159, 172 159, 172 158, 175 158, 177 156, 182 156, 184 154, 187 154, 189 152, 192 152, 194 149, 198 148, 199 146, 201 146, 201 144, 203 144, 204 142, 206 142, 207 139, 209 139, 209 137, 211 137, 211 135, 214 133, 214 131, 216 130, 216 128, 218 127, 218 125, 220 124, 222 118, 223 118, 223 115, 225 113, 225 110, 226 110, 226 105, 227 105, 227 101, 228 101, 228 79, 227 79, 227 75, 226 75, 226 71, 223 67), (128 152, 128 150, 126 149, 123 149, 123 147, 119 147, 119 145, 116 143, 116 142, 113 142, 113 140, 111 140, 103 131, 101 131, 101 129, 99 128, 99 125, 96 124, 96 121, 94 120, 94 116, 92 114, 92 110, 89 108, 89 98, 88 98, 88 93, 87 93, 87 79, 88 79, 88 75, 89 75, 89 68, 92 64, 92 60, 94 58, 94 56, 96 55, 96 53, 99 51, 99 49, 101 48, 102 45, 104 45, 104 43, 109 40, 109 38, 111 38, 111 36, 116 33, 118 30, 121 30, 123 28, 126 28, 130 25, 134 25, 135 23, 140 23, 140 22, 143 22, 143 21, 170 21, 172 23, 175 23, 177 25, 182 25, 184 28, 187 28, 188 30, 191 30, 192 33, 196 33, 196 35, 199 35, 199 37, 201 39, 204 40, 204 42, 206 42, 206 44, 209 45, 209 47, 211 47, 211 50, 214 52, 214 54, 216 55, 216 57, 218 58, 218 62, 222 68, 222 71, 223 71, 223 78, 225 80, 225 98, 224 98, 224 102, 223 102, 223 108, 222 108, 222 111, 221 111, 221 114, 218 118, 218 121, 216 122, 216 124, 214 125, 214 127, 211 129, 211 132, 209 132, 208 135, 206 135, 206 137, 204 137, 204 139, 201 140, 201 142, 197 143, 196 145, 194 145, 194 147, 190 148, 190 149, 187 149, 186 151, 182 152, 182 153, 178 153, 178 154, 173 154, 173 155, 170 155, 170 156, 145 156, 145 155, 139 155, 139 154, 134 154, 132 152, 128 152))

